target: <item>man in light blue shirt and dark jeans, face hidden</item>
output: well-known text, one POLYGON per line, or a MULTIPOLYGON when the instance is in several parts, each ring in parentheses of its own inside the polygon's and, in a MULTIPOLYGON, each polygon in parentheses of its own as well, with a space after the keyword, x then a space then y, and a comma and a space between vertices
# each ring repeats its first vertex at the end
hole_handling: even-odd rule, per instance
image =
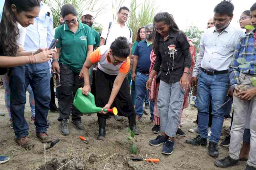
MULTIPOLYGON (((40 2, 40 13, 34 19, 34 23, 27 27, 24 51, 33 51, 39 48, 49 47, 54 38, 53 17, 49 7, 40 2)), ((24 106, 26 103, 26 90, 31 85, 35 99, 35 132, 43 143, 51 142, 52 138, 47 135, 49 127, 47 115, 50 94, 50 65, 45 62, 41 64, 26 64, 12 69, 11 85, 11 113, 13 116, 14 132, 17 143, 24 148, 31 148, 34 145, 28 136, 28 123, 24 118, 24 106)))

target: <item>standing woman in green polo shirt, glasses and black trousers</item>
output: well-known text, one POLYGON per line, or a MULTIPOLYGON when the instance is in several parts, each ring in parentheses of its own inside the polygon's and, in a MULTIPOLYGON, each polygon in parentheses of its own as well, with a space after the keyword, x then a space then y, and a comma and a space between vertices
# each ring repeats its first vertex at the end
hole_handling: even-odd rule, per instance
MULTIPOLYGON (((65 22, 55 31, 55 38, 59 39, 57 54, 53 60, 53 71, 60 73, 60 101, 59 118, 60 133, 68 135, 69 115, 73 94, 84 86, 82 67, 87 56, 93 52, 95 40, 91 28, 77 20, 77 11, 71 4, 61 8, 61 16, 65 22)), ((84 130, 81 113, 72 107, 72 122, 76 129, 84 130)))

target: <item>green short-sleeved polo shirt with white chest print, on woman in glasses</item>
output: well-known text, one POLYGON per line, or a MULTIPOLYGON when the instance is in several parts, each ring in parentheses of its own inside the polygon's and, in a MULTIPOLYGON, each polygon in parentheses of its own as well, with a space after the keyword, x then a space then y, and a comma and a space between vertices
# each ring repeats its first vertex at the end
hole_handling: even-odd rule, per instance
POLYGON ((63 24, 56 29, 55 38, 59 39, 56 47, 61 48, 59 63, 79 73, 86 60, 87 46, 95 44, 91 28, 79 22, 76 33, 73 33, 67 24, 63 24))

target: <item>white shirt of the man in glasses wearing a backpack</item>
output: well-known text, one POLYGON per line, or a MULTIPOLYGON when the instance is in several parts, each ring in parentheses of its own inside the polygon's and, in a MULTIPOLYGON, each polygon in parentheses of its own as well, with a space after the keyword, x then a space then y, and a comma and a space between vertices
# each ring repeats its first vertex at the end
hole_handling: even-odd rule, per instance
POLYGON ((117 21, 112 22, 111 27, 109 29, 109 23, 105 24, 102 29, 101 36, 106 39, 106 46, 110 48, 111 43, 118 37, 126 37, 128 44, 132 44, 132 31, 128 28, 127 24, 122 28, 117 21), (109 32, 109 35, 108 35, 109 32), (131 38, 130 38, 131 35, 131 38), (107 38, 108 36, 108 38, 107 38))

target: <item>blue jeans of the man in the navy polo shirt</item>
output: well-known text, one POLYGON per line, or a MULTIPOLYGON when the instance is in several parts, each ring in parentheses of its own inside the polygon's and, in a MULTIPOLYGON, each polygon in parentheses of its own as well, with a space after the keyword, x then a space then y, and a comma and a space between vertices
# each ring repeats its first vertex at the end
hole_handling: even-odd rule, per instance
MULTIPOLYGON (((146 82, 148 80, 148 75, 142 74, 141 72, 137 71, 135 86, 136 86, 136 104, 135 104, 135 114, 138 115, 140 118, 143 115, 143 104, 145 97, 148 96, 148 90, 146 89, 146 82)), ((150 101, 150 120, 154 119, 154 101, 150 101)))

